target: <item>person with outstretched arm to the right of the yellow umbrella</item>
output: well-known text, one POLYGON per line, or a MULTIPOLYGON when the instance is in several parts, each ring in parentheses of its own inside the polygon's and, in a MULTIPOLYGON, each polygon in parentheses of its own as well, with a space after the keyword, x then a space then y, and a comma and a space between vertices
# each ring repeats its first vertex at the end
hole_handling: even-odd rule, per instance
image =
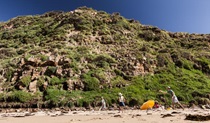
POLYGON ((182 106, 182 104, 179 102, 177 96, 175 95, 174 91, 171 89, 171 87, 167 87, 167 92, 165 91, 162 91, 162 90, 159 90, 159 92, 161 93, 168 93, 171 95, 171 99, 172 99, 172 108, 175 109, 175 104, 178 104, 183 110, 184 110, 184 107, 182 106))

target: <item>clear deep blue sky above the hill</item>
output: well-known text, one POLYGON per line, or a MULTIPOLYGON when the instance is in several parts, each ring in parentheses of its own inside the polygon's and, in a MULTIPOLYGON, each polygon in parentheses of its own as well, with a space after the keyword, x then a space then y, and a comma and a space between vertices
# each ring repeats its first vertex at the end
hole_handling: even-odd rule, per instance
POLYGON ((210 34, 210 0, 1 0, 0 22, 87 6, 169 32, 210 34))

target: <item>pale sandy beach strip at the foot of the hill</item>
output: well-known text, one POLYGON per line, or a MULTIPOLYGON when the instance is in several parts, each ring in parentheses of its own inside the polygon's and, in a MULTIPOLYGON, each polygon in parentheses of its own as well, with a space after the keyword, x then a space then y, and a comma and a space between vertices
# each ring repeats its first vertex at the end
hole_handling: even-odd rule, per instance
POLYGON ((38 111, 0 113, 0 123, 207 123, 208 121, 186 120, 187 115, 209 116, 210 110, 125 110, 114 111, 38 111))

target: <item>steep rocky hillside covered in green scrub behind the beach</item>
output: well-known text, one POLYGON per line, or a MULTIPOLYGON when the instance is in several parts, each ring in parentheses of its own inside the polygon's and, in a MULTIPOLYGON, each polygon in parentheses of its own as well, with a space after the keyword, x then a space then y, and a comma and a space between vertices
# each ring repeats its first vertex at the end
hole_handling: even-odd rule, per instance
MULTIPOLYGON (((81 7, 0 23, 0 101, 97 106, 123 92, 130 106, 172 86, 209 103, 210 35, 171 33, 119 13, 81 7)), ((7 104, 6 104, 7 103, 7 104)), ((27 105, 25 105, 27 107, 27 105)))

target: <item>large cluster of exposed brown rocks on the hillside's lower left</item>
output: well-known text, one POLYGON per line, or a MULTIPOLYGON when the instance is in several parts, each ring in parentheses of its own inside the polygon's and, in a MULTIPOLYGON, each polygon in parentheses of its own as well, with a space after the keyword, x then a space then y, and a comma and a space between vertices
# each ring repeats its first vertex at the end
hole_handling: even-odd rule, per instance
MULTIPOLYGON (((50 54, 42 53, 42 55, 49 56, 50 54)), ((83 90, 84 84, 80 80, 70 79, 70 77, 79 77, 79 74, 81 74, 81 72, 79 72, 79 74, 75 73, 69 66, 70 63, 71 60, 69 58, 65 58, 63 56, 61 57, 59 55, 50 55, 47 61, 41 61, 33 56, 27 60, 25 58, 21 58, 19 68, 15 70, 13 76, 11 77, 11 82, 16 83, 16 88, 19 90, 27 90, 35 93, 39 89, 42 91, 46 90, 49 86, 49 78, 56 76, 58 78, 69 78, 66 80, 66 86, 64 87, 66 90, 83 90), (44 77, 46 75, 49 77, 44 77), (23 83, 23 81, 29 81, 24 80, 24 77, 26 76, 30 76, 28 86, 23 83)), ((4 74, 3 70, 1 71, 1 74, 4 74)), ((3 76, 0 76, 0 80, 1 82, 6 81, 3 76)))

